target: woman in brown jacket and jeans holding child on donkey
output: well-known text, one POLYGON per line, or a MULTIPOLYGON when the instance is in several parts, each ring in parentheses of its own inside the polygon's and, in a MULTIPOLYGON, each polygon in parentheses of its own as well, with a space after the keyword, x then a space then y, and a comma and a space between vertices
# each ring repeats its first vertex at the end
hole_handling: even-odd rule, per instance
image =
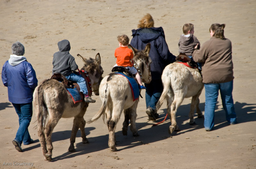
POLYGON ((236 112, 232 97, 233 62, 232 45, 224 37, 225 24, 212 24, 211 39, 193 53, 195 62, 202 62, 202 76, 205 88, 204 128, 211 131, 214 126, 214 111, 219 95, 226 112, 228 124, 236 124, 236 112))

